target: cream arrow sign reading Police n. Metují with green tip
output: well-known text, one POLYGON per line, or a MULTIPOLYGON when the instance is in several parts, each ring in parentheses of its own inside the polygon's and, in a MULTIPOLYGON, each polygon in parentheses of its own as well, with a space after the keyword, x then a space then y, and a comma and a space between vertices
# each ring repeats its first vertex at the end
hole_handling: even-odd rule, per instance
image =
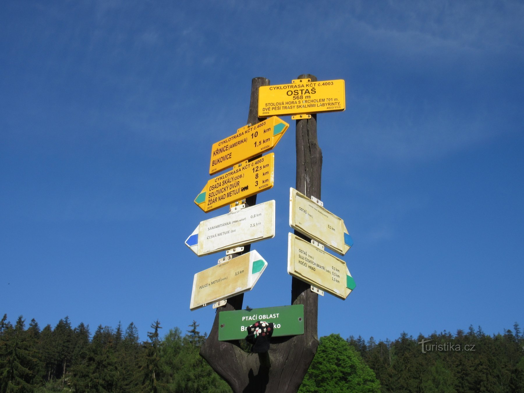
POLYGON ((195 274, 190 310, 252 290, 266 266, 253 250, 195 274))

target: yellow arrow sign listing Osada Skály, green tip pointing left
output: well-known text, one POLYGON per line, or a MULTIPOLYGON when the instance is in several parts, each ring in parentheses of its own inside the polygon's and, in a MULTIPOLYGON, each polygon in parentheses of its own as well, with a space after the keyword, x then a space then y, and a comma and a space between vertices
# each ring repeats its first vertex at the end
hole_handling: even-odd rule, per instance
POLYGON ((275 153, 244 161, 229 172, 208 181, 195 203, 204 212, 221 208, 273 187, 275 153))

